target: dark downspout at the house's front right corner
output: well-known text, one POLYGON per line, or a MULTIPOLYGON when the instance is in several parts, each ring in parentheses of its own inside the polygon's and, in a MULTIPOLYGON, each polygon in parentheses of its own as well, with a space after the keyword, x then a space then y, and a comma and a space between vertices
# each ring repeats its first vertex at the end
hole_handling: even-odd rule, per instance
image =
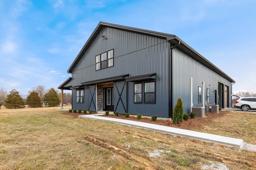
MULTIPOLYGON (((171 45, 171 43, 170 43, 170 45, 171 45)), ((171 49, 171 56, 169 57, 169 68, 168 68, 168 72, 169 72, 169 74, 170 74, 170 78, 168 78, 169 80, 169 86, 168 86, 168 90, 169 90, 169 102, 168 102, 168 104, 169 104, 169 117, 170 118, 172 118, 172 111, 173 111, 173 90, 172 90, 172 86, 173 86, 173 62, 172 62, 172 49, 174 49, 175 47, 177 47, 178 45, 180 45, 180 41, 179 41, 179 43, 177 44, 177 45, 174 45, 173 47, 171 47, 170 49, 171 49)))

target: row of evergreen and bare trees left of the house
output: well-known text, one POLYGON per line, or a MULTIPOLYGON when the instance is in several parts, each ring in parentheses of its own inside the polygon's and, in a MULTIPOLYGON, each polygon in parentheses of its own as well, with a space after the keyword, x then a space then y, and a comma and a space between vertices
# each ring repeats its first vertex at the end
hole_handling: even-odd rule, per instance
MULTIPOLYGON (((61 93, 54 88, 47 90, 45 86, 36 86, 28 91, 28 96, 22 98, 19 92, 15 89, 9 93, 4 87, 0 87, 0 109, 4 106, 8 109, 44 106, 58 106, 61 101, 61 93)), ((72 104, 72 94, 63 94, 63 103, 72 104)))

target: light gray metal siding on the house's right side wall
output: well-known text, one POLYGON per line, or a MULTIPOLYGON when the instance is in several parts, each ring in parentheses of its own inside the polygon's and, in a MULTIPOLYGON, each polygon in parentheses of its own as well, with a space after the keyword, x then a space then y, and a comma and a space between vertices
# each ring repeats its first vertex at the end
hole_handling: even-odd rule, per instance
MULTIPOLYGON (((229 87, 228 94, 232 94, 232 83, 223 78, 216 72, 210 70, 202 63, 196 61, 178 48, 173 52, 173 106, 175 106, 180 97, 183 102, 184 113, 190 113, 190 78, 193 78, 193 104, 194 106, 202 106, 198 103, 198 86, 202 87, 204 82, 204 100, 207 100, 207 91, 210 89, 210 104, 215 104, 215 93, 218 94, 218 82, 229 87)), ((203 94, 202 94, 203 95, 203 94)), ((229 95, 230 96, 230 95, 229 95)), ((203 100, 203 97, 202 97, 203 100)), ((204 102, 204 101, 202 101, 204 102)), ((224 101, 226 102, 226 101, 224 101)), ((229 107, 231 106, 230 101, 229 107)), ((218 95, 217 95, 218 104, 218 95)))

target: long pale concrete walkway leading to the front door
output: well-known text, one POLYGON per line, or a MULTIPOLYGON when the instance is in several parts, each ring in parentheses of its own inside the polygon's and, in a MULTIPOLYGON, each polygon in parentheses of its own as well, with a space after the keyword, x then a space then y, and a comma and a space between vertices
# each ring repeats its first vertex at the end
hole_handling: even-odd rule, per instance
POLYGON ((190 131, 190 130, 162 126, 162 125, 155 125, 155 124, 144 123, 144 122, 140 122, 140 121, 131 121, 131 120, 124 120, 124 119, 115 119, 115 118, 110 118, 110 117, 102 117, 99 115, 104 115, 104 114, 80 115, 78 117, 101 120, 101 121, 109 121, 109 122, 113 122, 113 123, 119 123, 122 125, 140 127, 143 129, 149 129, 149 130, 159 131, 159 132, 163 132, 163 133, 169 133, 172 135, 190 137, 193 139, 199 139, 202 141, 208 141, 208 142, 213 142, 213 143, 220 143, 220 144, 228 145, 228 146, 232 146, 232 147, 242 148, 244 145, 244 141, 242 139, 224 137, 224 136, 219 136, 219 135, 212 135, 209 133, 190 131))

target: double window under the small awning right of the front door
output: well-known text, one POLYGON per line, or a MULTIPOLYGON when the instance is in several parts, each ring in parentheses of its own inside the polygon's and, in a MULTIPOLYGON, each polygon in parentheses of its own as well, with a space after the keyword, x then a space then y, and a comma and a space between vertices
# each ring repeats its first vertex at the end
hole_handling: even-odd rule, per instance
POLYGON ((134 84, 134 103, 142 104, 142 96, 144 97, 144 104, 156 103, 155 82, 134 84))

